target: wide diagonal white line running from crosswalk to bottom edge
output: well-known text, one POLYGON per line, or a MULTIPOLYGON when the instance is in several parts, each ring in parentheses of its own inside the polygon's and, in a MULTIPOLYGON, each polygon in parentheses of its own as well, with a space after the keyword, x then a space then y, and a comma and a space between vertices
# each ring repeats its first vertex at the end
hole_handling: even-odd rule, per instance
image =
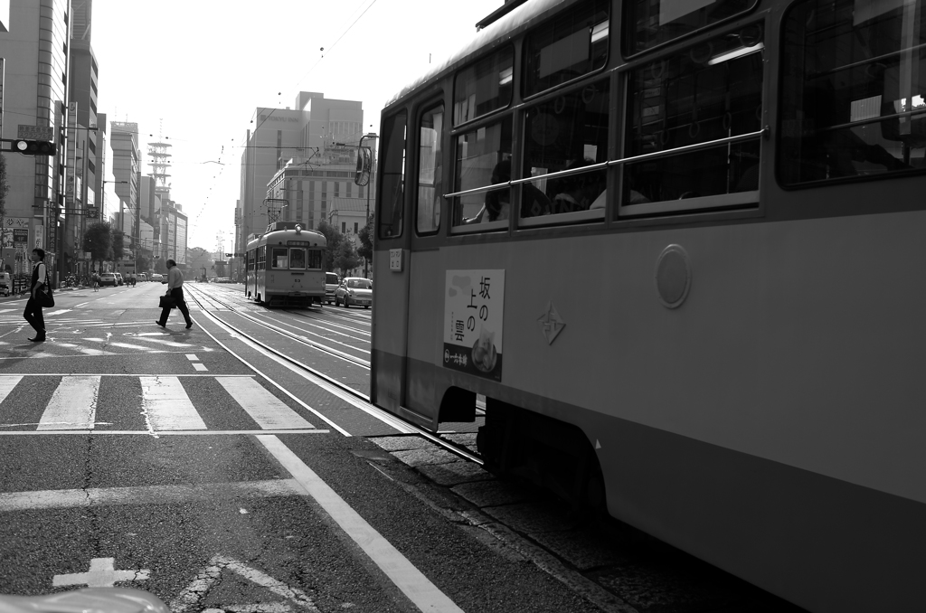
MULTIPOLYGON (((273 457, 287 469, 301 486, 306 488, 307 494, 315 498, 341 529, 350 536, 366 553, 382 572, 406 594, 412 603, 422 611, 447 611, 463 613, 446 594, 428 580, 427 577, 408 561, 382 534, 376 532, 366 519, 360 515, 344 499, 332 490, 328 483, 321 481, 319 476, 309 469, 305 462, 299 459, 289 447, 282 444, 276 436, 257 436, 273 457)), ((171 607, 172 613, 180 613, 182 609, 171 607)))

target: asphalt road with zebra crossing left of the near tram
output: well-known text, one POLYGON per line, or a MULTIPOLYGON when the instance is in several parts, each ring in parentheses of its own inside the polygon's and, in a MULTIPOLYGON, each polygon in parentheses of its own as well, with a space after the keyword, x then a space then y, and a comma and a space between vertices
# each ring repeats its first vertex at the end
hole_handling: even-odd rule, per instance
MULTIPOLYGON (((176 311, 156 327, 162 293, 60 292, 44 344, 26 341, 24 301, 0 302, 4 593, 131 586, 178 613, 599 610, 351 432, 396 433, 382 422, 270 382, 196 309, 193 330, 176 311)), ((364 317, 325 325, 344 340, 364 317)))

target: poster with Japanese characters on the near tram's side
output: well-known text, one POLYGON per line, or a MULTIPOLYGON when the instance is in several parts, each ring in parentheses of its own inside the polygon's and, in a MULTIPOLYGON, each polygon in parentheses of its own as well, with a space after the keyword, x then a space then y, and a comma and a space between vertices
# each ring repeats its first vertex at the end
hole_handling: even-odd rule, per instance
POLYGON ((502 380, 505 270, 447 270, 444 368, 502 380))

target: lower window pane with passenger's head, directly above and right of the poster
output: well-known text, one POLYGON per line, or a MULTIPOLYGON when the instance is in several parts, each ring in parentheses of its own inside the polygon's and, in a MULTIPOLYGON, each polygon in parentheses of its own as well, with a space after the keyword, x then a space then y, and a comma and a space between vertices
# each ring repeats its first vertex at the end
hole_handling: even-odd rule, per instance
MULTIPOLYGON (((511 117, 458 134, 454 192, 464 192, 511 179, 511 117)), ((453 225, 490 224, 481 230, 507 228, 511 188, 457 196, 453 225)))

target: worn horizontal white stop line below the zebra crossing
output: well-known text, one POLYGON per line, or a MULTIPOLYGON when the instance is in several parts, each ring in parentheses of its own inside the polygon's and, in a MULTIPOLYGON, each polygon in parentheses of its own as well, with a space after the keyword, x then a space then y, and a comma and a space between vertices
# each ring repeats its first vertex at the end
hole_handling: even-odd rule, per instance
POLYGON ((46 508, 195 502, 217 498, 305 495, 293 479, 195 485, 139 485, 0 494, 0 513, 46 508))

